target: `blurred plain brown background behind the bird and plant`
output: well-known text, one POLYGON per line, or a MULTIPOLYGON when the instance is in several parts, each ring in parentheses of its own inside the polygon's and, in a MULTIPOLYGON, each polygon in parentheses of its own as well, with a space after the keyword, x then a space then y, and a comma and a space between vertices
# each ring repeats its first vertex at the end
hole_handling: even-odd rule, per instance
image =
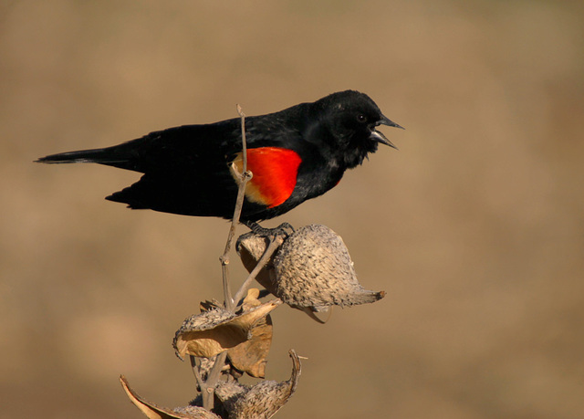
POLYGON ((584 417, 583 7, 0 2, 0 415, 141 417, 120 373, 187 403, 172 336, 222 296, 224 221, 130 211, 103 197, 137 173, 34 159, 358 89, 400 152, 267 225, 330 226, 388 296, 324 326, 275 311, 267 378, 309 358, 277 417, 584 417))

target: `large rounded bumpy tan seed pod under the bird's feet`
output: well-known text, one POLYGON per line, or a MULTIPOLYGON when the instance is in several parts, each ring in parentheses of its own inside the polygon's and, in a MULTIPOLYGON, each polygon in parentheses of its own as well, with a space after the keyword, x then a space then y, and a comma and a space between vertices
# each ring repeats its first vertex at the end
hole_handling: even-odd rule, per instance
MULTIPOLYGON (((265 237, 253 234, 240 237, 237 250, 247 270, 255 267, 266 243, 265 237)), ((325 225, 297 229, 260 274, 258 282, 268 291, 309 314, 333 305, 352 306, 385 297, 384 291, 360 286, 347 246, 325 225)))

